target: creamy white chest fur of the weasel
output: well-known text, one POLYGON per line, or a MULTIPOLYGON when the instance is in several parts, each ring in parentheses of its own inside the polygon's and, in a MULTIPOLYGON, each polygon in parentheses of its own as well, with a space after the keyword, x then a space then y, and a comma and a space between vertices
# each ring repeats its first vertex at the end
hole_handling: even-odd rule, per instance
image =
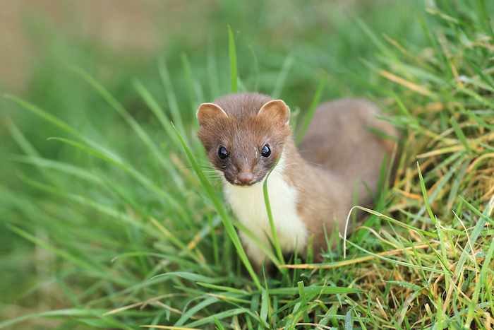
MULTIPOLYGON (((296 247, 302 252, 308 243, 309 232, 297 214, 298 191, 287 183, 283 175, 283 166, 282 156, 267 180, 273 223, 282 252, 294 252, 296 247)), ((239 187, 226 182, 224 195, 236 218, 270 247, 267 237, 272 240, 272 232, 267 218, 263 184, 264 182, 260 182, 252 187, 239 187)), ((248 256, 261 264, 265 259, 265 253, 243 232, 240 232, 239 236, 248 256)))

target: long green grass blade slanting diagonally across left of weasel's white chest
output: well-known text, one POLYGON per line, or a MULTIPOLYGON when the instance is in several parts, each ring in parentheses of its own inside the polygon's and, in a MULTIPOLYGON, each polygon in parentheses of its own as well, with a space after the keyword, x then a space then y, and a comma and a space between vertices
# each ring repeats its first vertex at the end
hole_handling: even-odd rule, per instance
POLYGON ((231 238, 231 241, 234 243, 237 252, 239 253, 239 257, 243 264, 246 266, 246 269, 248 273, 251 275, 255 286, 258 288, 258 290, 261 290, 261 285, 258 276, 255 274, 251 263, 248 261, 246 252, 243 250, 242 244, 239 239, 239 235, 237 235, 236 230, 234 228, 234 225, 231 224, 230 219, 228 218, 227 212, 224 211, 224 207, 221 204, 221 201, 219 201, 219 198, 217 194, 215 193, 215 190, 212 189, 211 184, 207 181, 203 171, 200 169, 198 163, 195 161, 191 151, 189 150, 188 146, 186 145, 185 141, 183 141, 182 136, 180 135, 179 131, 176 130, 174 126, 174 130, 177 136, 179 136, 179 139, 182 143, 183 150, 185 150, 188 160, 191 162, 191 165, 195 171, 195 174, 198 176, 198 179, 200 183, 203 185, 204 190, 207 193, 207 196, 209 196, 210 200, 212 201, 212 204, 215 206, 216 211, 219 214, 219 218, 222 219, 224 228, 227 230, 229 237, 231 238))

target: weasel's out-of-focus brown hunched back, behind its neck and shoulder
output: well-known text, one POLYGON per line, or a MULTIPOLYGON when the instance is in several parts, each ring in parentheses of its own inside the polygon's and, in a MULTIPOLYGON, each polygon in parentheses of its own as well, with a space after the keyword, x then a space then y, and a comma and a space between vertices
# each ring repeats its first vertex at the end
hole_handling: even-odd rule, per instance
MULTIPOLYGON (((392 124, 377 118, 380 114, 378 105, 367 100, 325 102, 316 110, 299 152, 309 163, 338 175, 347 185, 354 185, 359 177, 375 193, 382 159, 386 153, 389 163, 394 142, 383 139, 368 127, 388 136, 399 136, 392 124)), ((372 203, 363 184, 360 184, 358 203, 372 203)))

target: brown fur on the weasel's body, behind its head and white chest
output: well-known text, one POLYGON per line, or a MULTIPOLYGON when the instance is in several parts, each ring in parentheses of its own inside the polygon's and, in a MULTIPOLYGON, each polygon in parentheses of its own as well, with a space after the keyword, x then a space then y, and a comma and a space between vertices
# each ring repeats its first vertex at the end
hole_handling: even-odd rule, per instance
MULTIPOLYGON (((299 179, 296 185, 303 191, 301 195, 308 196, 306 203, 299 205, 299 212, 314 234, 315 253, 326 247, 322 224, 325 223, 328 235, 332 232, 332 219, 328 219, 327 214, 334 214, 338 230, 344 230, 349 210, 354 206, 357 179, 359 190, 356 204, 373 204, 362 181, 373 194, 377 192, 382 160, 387 154, 389 165, 394 143, 373 134, 367 127, 394 138, 399 137, 392 124, 376 118, 379 112, 379 107, 374 103, 359 99, 321 104, 299 146, 301 157, 309 162, 304 162, 309 177, 301 180, 297 178, 297 170, 287 167, 291 171, 289 176, 299 179)), ((321 261, 320 257, 318 260, 321 261)))

